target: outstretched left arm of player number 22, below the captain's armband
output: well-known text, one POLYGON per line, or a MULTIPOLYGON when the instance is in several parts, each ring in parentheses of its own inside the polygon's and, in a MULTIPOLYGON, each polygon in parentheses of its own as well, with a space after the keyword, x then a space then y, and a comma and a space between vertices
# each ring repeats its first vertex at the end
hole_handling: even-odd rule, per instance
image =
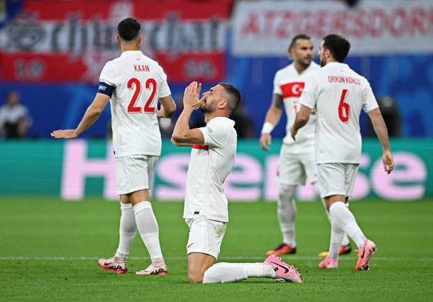
POLYGON ((93 125, 97 118, 100 117, 109 100, 109 95, 97 93, 95 100, 93 100, 92 104, 88 106, 86 113, 84 113, 84 116, 76 129, 55 130, 51 133, 51 136, 54 138, 77 138, 93 125))

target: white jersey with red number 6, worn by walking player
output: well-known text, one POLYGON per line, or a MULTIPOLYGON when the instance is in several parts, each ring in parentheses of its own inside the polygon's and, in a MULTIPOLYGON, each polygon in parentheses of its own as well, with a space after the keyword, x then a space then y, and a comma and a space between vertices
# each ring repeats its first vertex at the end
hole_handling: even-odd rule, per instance
POLYGON ((378 107, 367 79, 343 63, 328 63, 306 81, 301 104, 316 111, 316 163, 359 164, 359 115, 378 107))

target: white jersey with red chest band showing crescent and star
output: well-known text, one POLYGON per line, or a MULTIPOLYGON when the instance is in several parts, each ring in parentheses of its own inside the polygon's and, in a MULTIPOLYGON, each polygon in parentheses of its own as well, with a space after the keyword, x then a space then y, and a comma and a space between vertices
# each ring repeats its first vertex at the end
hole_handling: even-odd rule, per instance
MULTIPOLYGON (((294 63, 278 70, 274 77, 274 94, 281 95, 283 97, 285 113, 288 118, 287 125, 285 126, 286 135, 283 142, 286 144, 295 143, 290 136, 290 128, 294 123, 296 113, 299 111, 299 97, 301 96, 302 90, 304 89, 305 79, 315 70, 320 69, 320 66, 314 62, 311 62, 310 66, 301 74, 298 73, 294 67, 294 63)), ((315 116, 311 116, 308 120, 307 125, 299 130, 296 143, 297 145, 310 141, 314 143, 314 132, 315 132, 315 116)))

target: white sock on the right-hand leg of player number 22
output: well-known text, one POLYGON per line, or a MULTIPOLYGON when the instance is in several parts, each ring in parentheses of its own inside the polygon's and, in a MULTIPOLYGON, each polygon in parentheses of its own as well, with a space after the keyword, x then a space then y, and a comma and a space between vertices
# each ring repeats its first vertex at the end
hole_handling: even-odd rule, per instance
POLYGON ((161 246, 159 246, 159 228, 157 218, 152 211, 152 205, 148 201, 142 201, 134 205, 135 222, 140 232, 141 239, 148 249, 153 264, 164 262, 161 246))

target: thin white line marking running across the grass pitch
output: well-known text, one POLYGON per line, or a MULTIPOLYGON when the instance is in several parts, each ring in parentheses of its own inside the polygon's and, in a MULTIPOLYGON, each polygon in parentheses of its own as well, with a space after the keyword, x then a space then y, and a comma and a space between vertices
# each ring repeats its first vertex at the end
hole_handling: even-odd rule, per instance
MULTIPOLYGON (((98 257, 61 257, 61 256, 46 256, 46 257, 26 257, 26 256, 10 256, 0 257, 0 261, 77 261, 77 260, 97 260, 98 257)), ((128 257, 129 260, 150 260, 150 257, 128 257)), ((187 260, 187 256, 168 256, 164 257, 166 260, 187 260)), ((321 257, 309 257, 309 256, 289 256, 288 260, 320 260, 321 257)), ((354 260, 355 257, 340 257, 341 260, 354 260)), ((420 262, 433 262, 433 258, 414 258, 414 257, 373 257, 376 261, 420 261, 420 262)), ((225 256, 219 257, 218 260, 265 260, 263 256, 225 256)))

